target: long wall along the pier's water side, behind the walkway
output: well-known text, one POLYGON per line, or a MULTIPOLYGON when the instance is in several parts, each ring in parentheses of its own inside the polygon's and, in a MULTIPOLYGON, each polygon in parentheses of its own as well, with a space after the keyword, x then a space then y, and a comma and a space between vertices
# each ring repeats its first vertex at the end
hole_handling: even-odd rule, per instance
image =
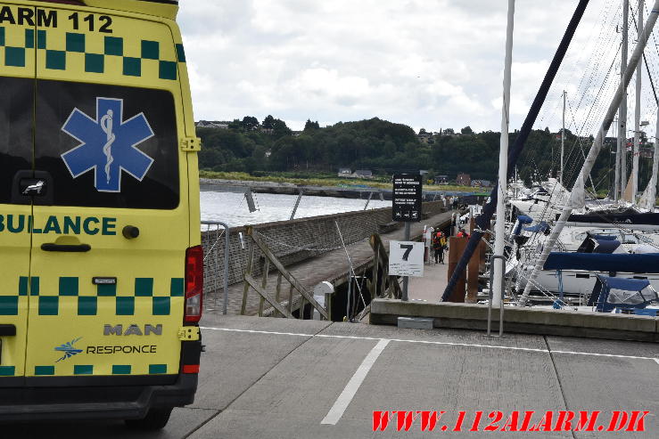
MULTIPOLYGON (((442 201, 427 202, 424 203, 424 214, 437 215, 442 212, 442 208, 442 201)), ((346 245, 350 245, 359 240, 367 240, 373 233, 378 232, 379 224, 391 223, 391 207, 311 216, 292 221, 256 224, 253 227, 282 263, 290 265, 341 248, 335 222, 339 224, 346 245)), ((245 235, 246 230, 247 227, 243 226, 232 227, 229 231, 229 285, 243 281, 251 251, 251 240, 245 235), (243 233, 244 249, 239 233, 243 233)), ((219 232, 221 231, 220 227, 219 232)), ((214 230, 202 232, 202 246, 204 255, 208 255, 204 266, 204 292, 217 291, 222 289, 224 282, 225 237, 214 230)), ((259 275, 264 259, 258 249, 254 255, 254 272, 259 275)))

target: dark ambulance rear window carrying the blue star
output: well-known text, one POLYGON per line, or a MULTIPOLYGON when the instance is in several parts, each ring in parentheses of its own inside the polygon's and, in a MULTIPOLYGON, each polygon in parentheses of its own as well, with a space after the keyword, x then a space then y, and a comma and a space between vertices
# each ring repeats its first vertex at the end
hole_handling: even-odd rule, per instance
POLYGON ((51 175, 54 205, 178 206, 171 93, 37 80, 36 107, 35 169, 51 175))

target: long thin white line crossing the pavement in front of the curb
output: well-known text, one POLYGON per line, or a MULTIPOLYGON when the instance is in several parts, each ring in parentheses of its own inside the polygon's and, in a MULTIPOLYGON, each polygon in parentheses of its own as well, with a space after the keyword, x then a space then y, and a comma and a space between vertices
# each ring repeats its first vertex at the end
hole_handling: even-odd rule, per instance
MULTIPOLYGON (((253 334, 273 334, 278 336, 293 336, 293 337, 323 337, 323 338, 351 338, 355 340, 387 340, 397 341, 401 343, 418 343, 423 345, 439 345, 439 346, 463 346, 463 347, 485 347, 490 349, 507 349, 511 351, 526 351, 526 352, 539 352, 548 354, 547 349, 538 349, 533 347, 519 347, 519 346, 498 346, 498 345, 482 345, 477 343, 455 343, 450 341, 432 341, 432 340, 410 340, 405 338, 383 338, 383 337, 358 337, 358 336, 338 336, 331 334, 301 334, 296 332, 276 332, 268 330, 254 330, 254 329, 230 329, 230 328, 210 328, 202 327, 202 329, 210 330, 223 330, 227 332, 251 332, 253 334)), ((571 355, 591 355, 598 357, 614 357, 614 358, 629 358, 631 360, 651 360, 659 364, 659 358, 655 357, 641 357, 635 355, 622 355, 622 354, 597 354, 589 352, 576 352, 576 351, 551 351, 552 354, 571 354, 571 355)))

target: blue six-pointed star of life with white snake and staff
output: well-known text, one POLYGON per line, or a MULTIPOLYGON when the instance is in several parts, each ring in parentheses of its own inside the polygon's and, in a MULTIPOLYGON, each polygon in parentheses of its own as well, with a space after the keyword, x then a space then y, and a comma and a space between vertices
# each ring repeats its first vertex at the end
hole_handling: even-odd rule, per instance
POLYGON ((153 130, 139 113, 123 121, 123 99, 96 98, 96 118, 77 108, 62 126, 80 144, 62 154, 73 178, 94 169, 95 188, 101 192, 121 191, 121 171, 140 182, 153 159, 136 146, 153 136, 153 130))

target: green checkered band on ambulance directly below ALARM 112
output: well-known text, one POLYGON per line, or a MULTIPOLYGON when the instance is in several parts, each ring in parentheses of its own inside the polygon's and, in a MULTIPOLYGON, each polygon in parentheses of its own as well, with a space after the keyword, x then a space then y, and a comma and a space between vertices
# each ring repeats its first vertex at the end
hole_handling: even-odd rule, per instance
POLYGON ((158 41, 141 40, 141 54, 139 57, 127 56, 124 52, 123 37, 104 37, 103 53, 86 52, 86 34, 67 32, 66 49, 54 50, 48 45, 48 30, 25 29, 21 41, 8 42, 6 29, 0 26, 0 47, 4 47, 5 66, 25 67, 26 50, 34 49, 45 51, 45 69, 66 70, 67 55, 69 53, 85 54, 86 73, 104 73, 105 65, 109 61, 120 60, 122 72, 128 77, 142 77, 144 62, 158 63, 158 77, 160 79, 177 80, 177 62, 185 62, 183 45, 176 45, 177 60, 162 60, 161 47, 158 41))

